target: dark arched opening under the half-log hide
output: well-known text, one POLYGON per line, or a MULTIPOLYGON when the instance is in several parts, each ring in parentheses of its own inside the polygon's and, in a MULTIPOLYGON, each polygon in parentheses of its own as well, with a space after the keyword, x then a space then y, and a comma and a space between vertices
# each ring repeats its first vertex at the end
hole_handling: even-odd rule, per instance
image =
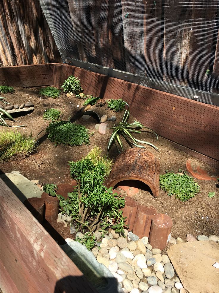
POLYGON ((153 195, 153 192, 151 190, 151 188, 144 182, 140 181, 140 180, 123 180, 118 182, 115 186, 115 188, 121 188, 126 191, 127 189, 127 193, 129 193, 128 191, 133 192, 134 194, 139 192, 139 189, 142 191, 148 191, 151 195, 153 195), (131 189, 131 190, 130 190, 131 189))

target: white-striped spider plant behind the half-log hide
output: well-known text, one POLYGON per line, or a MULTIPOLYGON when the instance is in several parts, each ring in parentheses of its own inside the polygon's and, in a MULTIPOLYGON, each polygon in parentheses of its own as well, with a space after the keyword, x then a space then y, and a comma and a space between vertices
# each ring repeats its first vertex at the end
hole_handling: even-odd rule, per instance
POLYGON ((124 102, 124 103, 128 106, 128 110, 125 111, 122 121, 119 122, 118 124, 114 124, 112 128, 108 128, 108 129, 114 129, 114 131, 112 132, 112 135, 110 137, 110 141, 109 141, 108 148, 107 148, 107 153, 109 152, 109 149, 113 143, 115 143, 115 146, 116 146, 119 154, 121 154, 121 151, 122 152, 124 151, 123 144, 120 139, 121 135, 125 138, 126 142, 130 146, 134 145, 137 148, 145 148, 145 146, 138 144, 140 142, 140 143, 144 143, 146 145, 150 145, 153 148, 155 148, 157 151, 159 151, 159 149, 155 145, 153 145, 152 143, 146 142, 143 140, 139 140, 139 139, 134 138, 132 136, 132 133, 141 133, 141 131, 138 130, 137 128, 146 128, 146 129, 152 131, 158 139, 157 134, 152 129, 143 126, 140 122, 138 122, 138 121, 134 121, 133 123, 128 122, 129 114, 130 114, 129 104, 126 102, 124 102))

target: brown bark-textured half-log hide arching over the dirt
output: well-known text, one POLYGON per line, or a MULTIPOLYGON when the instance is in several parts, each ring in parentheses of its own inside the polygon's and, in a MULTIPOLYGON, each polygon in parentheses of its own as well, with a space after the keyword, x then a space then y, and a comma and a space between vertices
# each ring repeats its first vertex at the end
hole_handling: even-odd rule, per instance
POLYGON ((124 180, 142 181, 151 188, 153 197, 159 194, 159 160, 149 151, 131 148, 119 154, 107 180, 114 188, 124 180))

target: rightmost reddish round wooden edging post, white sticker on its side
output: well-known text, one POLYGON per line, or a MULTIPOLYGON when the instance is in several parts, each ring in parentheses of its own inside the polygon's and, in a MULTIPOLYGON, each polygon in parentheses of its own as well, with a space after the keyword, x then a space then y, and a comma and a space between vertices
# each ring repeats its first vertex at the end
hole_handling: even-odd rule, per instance
POLYGON ((149 241, 153 248, 162 250, 171 237, 172 219, 165 214, 157 214, 152 218, 149 241))

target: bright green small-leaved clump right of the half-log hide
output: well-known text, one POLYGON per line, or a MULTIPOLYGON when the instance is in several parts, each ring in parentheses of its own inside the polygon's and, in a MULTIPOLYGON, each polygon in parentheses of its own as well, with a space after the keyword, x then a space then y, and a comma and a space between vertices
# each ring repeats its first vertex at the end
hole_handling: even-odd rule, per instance
POLYGON ((200 186, 192 177, 186 174, 174 174, 173 172, 160 175, 159 184, 160 188, 168 192, 169 196, 175 195, 177 199, 183 202, 194 197, 200 189, 200 186))

